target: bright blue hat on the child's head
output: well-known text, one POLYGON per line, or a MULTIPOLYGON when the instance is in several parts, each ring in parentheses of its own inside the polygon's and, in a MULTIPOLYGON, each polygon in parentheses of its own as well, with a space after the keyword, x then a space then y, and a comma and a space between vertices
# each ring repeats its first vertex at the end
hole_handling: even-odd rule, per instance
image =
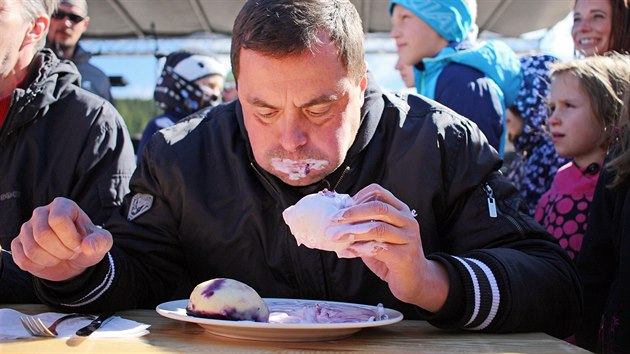
POLYGON ((391 0, 390 15, 396 4, 413 12, 449 42, 463 41, 473 25, 464 0, 391 0))

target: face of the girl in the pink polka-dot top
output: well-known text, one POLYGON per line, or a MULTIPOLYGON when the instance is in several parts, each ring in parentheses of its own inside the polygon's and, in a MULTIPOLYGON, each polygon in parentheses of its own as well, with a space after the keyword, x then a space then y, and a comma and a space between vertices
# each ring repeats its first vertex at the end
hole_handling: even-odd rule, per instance
POLYGON ((602 163, 606 154, 604 127, 580 80, 568 73, 556 76, 549 94, 547 125, 558 155, 572 157, 580 167, 602 163))

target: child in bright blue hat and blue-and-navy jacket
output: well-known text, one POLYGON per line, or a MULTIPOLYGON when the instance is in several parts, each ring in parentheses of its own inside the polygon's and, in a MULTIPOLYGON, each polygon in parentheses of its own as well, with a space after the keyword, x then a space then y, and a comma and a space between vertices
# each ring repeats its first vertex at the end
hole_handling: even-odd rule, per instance
POLYGON ((475 39, 475 0, 392 0, 402 62, 414 66, 418 93, 475 122, 503 154, 505 112, 520 87, 520 63, 501 41, 475 39))

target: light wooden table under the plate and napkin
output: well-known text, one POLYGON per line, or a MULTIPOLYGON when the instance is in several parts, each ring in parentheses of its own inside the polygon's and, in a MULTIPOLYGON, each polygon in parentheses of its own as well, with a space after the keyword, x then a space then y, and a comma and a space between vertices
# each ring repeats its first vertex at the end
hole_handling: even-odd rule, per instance
MULTIPOLYGON (((28 314, 52 311, 43 305, 0 305, 28 314)), ((150 334, 126 339, 32 338, 0 341, 0 353, 215 353, 367 351, 382 353, 588 353, 543 333, 481 334, 437 329, 424 321, 406 321, 363 329, 351 337, 325 342, 259 342, 206 333, 192 323, 160 316, 153 310, 117 313, 151 324, 150 334)))

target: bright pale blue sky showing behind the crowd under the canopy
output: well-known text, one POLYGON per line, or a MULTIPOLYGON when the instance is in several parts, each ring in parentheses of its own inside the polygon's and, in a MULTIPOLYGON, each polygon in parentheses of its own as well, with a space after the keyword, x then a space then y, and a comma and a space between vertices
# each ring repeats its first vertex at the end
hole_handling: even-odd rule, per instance
MULTIPOLYGON (((571 39, 572 14, 558 22, 549 30, 524 34, 518 39, 505 40, 517 52, 540 52, 555 55, 561 60, 573 57, 571 39)), ((484 39, 483 35, 480 39, 484 39)), ((156 50, 169 53, 185 47, 200 47, 217 53, 217 58, 230 67, 229 38, 218 39, 162 39, 157 43, 151 40, 85 40, 82 46, 94 53, 128 53, 116 55, 95 55, 91 62, 109 76, 122 76, 127 82, 125 87, 113 87, 115 99, 143 98, 151 99, 155 82, 160 74, 162 61, 153 53, 156 50), (138 54, 146 53, 146 54, 138 54)), ((396 64, 396 46, 393 39, 385 34, 375 34, 366 39, 366 61, 368 68, 375 75, 376 81, 384 89, 402 90, 404 84, 394 69, 396 64)))

